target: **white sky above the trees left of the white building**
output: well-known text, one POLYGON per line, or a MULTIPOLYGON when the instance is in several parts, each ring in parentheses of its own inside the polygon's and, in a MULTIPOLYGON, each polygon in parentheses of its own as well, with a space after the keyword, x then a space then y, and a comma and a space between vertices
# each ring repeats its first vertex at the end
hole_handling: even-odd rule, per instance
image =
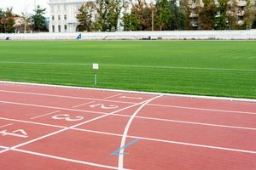
MULTIPOLYGON (((8 8, 13 7, 13 11, 15 14, 21 14, 21 12, 27 12, 28 14, 32 14, 34 8, 34 2, 37 5, 40 5, 43 8, 47 8, 48 11, 48 0, 0 0, 0 8, 8 8)), ((46 14, 48 16, 48 12, 46 14)))

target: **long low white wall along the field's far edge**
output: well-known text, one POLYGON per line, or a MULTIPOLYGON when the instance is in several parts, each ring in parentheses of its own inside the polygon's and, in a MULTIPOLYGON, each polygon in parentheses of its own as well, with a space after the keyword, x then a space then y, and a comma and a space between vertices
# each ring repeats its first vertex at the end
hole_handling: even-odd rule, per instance
MULTIPOLYGON (((80 33, 0 34, 0 40, 75 40, 80 33)), ((82 32, 82 40, 256 40, 256 30, 249 31, 118 31, 82 32)))

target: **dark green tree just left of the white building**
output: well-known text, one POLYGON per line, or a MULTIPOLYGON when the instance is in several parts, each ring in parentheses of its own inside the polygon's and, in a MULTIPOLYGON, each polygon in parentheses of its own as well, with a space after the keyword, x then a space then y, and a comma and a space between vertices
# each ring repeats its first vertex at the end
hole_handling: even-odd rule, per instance
POLYGON ((34 10, 35 14, 32 15, 32 22, 35 30, 46 30, 46 22, 44 17, 45 10, 46 8, 41 8, 39 5, 37 9, 34 10))

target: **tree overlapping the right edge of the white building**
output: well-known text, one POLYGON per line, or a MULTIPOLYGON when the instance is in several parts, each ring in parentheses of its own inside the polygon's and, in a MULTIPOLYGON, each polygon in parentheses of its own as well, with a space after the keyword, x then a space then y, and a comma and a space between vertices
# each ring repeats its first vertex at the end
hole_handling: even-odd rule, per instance
POLYGON ((79 14, 77 19, 79 20, 79 31, 93 31, 92 13, 96 10, 96 4, 94 2, 87 2, 79 8, 79 14))

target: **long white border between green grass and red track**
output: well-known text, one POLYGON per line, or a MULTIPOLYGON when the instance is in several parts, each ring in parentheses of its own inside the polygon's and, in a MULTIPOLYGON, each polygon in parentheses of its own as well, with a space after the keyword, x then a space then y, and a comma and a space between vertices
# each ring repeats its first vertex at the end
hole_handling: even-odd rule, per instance
MULTIPOLYGON (((53 85, 53 84, 44 84, 44 83, 31 83, 31 82, 0 81, 0 83, 26 85, 26 86, 51 87, 51 88, 87 89, 87 90, 97 90, 97 91, 103 91, 103 92, 104 91, 119 92, 119 93, 127 93, 127 94, 163 95, 163 96, 195 98, 195 99, 218 99, 218 100, 230 100, 230 101, 241 101, 241 102, 256 103, 256 99, 242 99, 242 98, 216 97, 216 96, 204 96, 204 95, 189 95, 189 94, 165 94, 165 93, 154 93, 154 92, 138 92, 138 91, 133 91, 133 90, 130 91, 130 90, 119 90, 119 89, 110 89, 110 88, 84 88, 84 87, 73 87, 73 86, 53 85)), ((112 101, 112 100, 110 100, 110 101, 112 101)))

